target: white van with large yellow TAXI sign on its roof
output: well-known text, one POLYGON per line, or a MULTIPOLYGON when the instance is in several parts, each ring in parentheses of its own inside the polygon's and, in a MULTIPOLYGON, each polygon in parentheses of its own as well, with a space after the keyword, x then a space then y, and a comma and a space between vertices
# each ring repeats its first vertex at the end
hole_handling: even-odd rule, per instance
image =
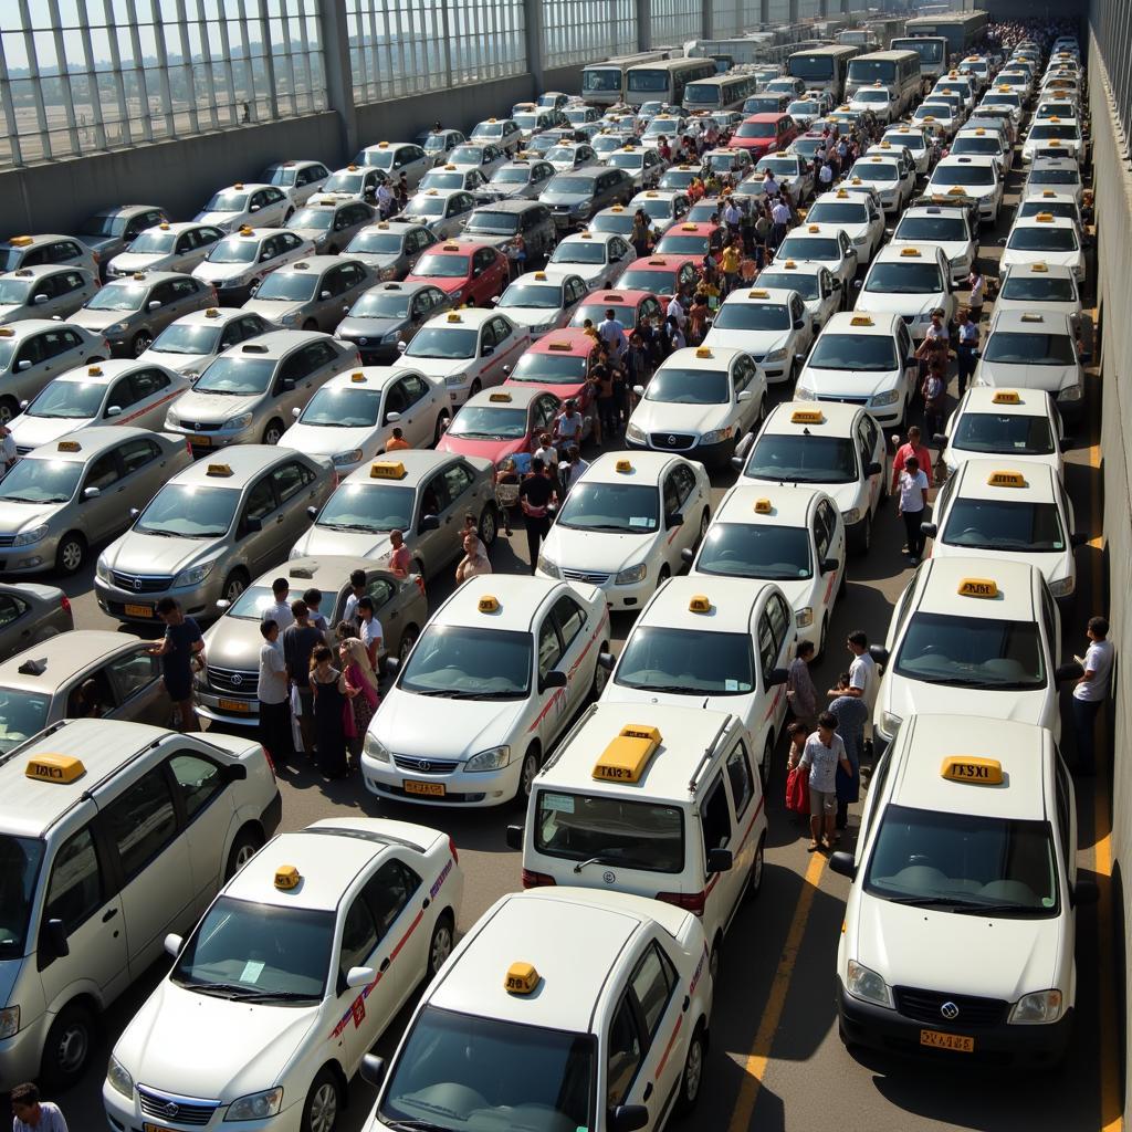
POLYGON ((763 881, 766 808, 746 730, 719 711, 599 703, 534 779, 523 886, 653 897, 701 918, 719 971, 723 933, 763 881))

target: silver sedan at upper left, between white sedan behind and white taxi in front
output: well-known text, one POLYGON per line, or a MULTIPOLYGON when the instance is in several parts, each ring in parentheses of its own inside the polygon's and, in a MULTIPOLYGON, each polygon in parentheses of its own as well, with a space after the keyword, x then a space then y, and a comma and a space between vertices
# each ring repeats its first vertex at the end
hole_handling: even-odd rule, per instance
POLYGON ((137 358, 170 323, 216 306, 211 283, 177 272, 139 272, 108 283, 71 321, 102 334, 118 358, 137 358))

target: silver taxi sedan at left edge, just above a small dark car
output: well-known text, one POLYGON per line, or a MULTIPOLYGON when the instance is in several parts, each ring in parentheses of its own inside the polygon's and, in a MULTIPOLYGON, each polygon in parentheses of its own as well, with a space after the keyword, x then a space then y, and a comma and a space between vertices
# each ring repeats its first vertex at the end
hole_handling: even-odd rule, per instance
POLYGON ((0 573, 74 574, 91 546, 123 531, 192 456, 181 437, 130 426, 33 448, 0 480, 0 573))

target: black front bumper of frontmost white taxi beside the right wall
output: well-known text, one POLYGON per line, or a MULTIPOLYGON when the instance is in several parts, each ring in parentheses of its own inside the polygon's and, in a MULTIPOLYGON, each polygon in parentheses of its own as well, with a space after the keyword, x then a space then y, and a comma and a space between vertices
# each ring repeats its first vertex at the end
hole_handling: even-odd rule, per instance
POLYGON ((920 1032, 935 1029, 895 1010, 874 1006, 846 993, 838 979, 838 1022, 846 1044, 882 1049, 904 1056, 941 1058, 949 1065, 967 1060, 1013 1065, 1055 1065, 1062 1060, 1073 1031, 1073 1007, 1048 1026, 963 1027, 940 1019, 940 1030, 975 1040, 971 1053, 957 1053, 920 1045, 920 1032))

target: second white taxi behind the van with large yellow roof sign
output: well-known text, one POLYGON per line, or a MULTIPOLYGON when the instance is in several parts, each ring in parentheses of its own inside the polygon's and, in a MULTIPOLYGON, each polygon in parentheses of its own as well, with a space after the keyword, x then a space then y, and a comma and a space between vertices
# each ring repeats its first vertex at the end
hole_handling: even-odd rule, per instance
POLYGON ((790 602, 798 642, 813 644, 817 657, 825 651, 848 574, 844 521, 824 491, 740 480, 723 496, 698 554, 685 557, 691 577, 775 583, 790 602))

